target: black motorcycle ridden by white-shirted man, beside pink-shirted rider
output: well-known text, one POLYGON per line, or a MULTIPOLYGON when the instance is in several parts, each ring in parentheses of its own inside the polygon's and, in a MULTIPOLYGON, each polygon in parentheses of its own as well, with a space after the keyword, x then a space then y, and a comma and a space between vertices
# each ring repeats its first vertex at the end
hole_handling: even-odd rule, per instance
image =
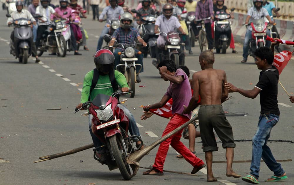
POLYGON ((58 56, 65 57, 66 51, 70 51, 71 30, 70 25, 65 22, 64 19, 54 19, 44 31, 40 41, 41 47, 38 48, 38 56, 48 50, 51 53, 57 53, 58 56))

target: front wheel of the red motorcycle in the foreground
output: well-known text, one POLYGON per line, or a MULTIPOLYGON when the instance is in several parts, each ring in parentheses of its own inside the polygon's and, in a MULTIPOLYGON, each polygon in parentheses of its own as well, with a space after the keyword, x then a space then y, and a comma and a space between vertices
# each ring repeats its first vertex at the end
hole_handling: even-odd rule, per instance
POLYGON ((123 139, 121 136, 113 135, 109 138, 109 143, 113 157, 116 161, 119 171, 121 172, 121 175, 123 176, 123 179, 130 180, 132 178, 131 169, 126 163, 126 156, 123 154, 123 139))

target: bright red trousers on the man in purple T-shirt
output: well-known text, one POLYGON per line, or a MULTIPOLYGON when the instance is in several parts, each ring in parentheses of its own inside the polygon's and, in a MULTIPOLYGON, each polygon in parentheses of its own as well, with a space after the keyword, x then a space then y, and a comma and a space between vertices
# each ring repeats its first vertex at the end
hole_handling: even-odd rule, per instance
MULTIPOLYGON (((186 116, 182 116, 180 114, 174 114, 171 117, 171 120, 166 125, 166 128, 163 131, 162 137, 166 134, 170 133, 177 127, 180 127, 184 123, 189 121, 189 118, 186 116)), ((162 142, 159 145, 158 151, 156 153, 155 161, 153 164, 153 168, 157 169, 159 171, 163 171, 163 164, 166 159, 166 155, 169 149, 169 145, 173 147, 177 152, 179 152, 188 163, 192 164, 192 166, 202 166, 204 162, 195 156, 181 141, 183 129, 179 131, 178 133, 172 135, 168 139, 166 139, 164 142, 162 142)))

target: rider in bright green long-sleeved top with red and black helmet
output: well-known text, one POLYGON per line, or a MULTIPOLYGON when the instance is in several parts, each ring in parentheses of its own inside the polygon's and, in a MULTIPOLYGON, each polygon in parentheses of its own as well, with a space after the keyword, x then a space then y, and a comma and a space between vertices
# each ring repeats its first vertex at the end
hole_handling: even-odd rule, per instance
MULTIPOLYGON (((81 103, 78 104, 76 107, 79 109, 82 107, 83 103, 87 101, 92 101, 96 95, 98 94, 104 94, 111 96, 111 94, 118 89, 118 86, 121 88, 122 92, 129 91, 129 87, 126 81, 125 76, 120 73, 119 71, 114 69, 114 55, 113 53, 108 49, 101 49, 96 52, 94 55, 94 63, 96 68, 94 70, 98 71, 98 80, 96 83, 95 88, 91 91, 90 89, 92 86, 92 80, 94 77, 94 70, 89 71, 84 78, 83 81, 83 89, 81 92, 81 103), (114 82, 111 82, 111 79, 115 79, 114 82)), ((136 120, 134 119, 131 112, 122 104, 118 104, 117 107, 123 110, 125 115, 129 119, 129 132, 131 135, 137 135, 141 137, 138 126, 136 124, 136 120)), ((103 143, 93 134, 91 126, 92 126, 92 115, 89 115, 89 131, 93 140, 93 143, 95 147, 100 147, 103 145, 103 143)), ((138 147, 141 144, 141 141, 136 141, 136 147, 138 147)), ((143 147, 146 147, 143 145, 143 147)), ((103 150, 101 148, 97 149, 98 152, 96 152, 96 156, 103 161, 105 160, 105 156, 103 156, 103 150)))

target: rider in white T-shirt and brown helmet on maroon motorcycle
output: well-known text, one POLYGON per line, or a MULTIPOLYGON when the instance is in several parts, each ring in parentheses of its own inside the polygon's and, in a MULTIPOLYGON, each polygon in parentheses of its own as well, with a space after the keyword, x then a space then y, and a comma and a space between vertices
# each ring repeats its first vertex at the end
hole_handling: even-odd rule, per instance
MULTIPOLYGON (((178 21, 178 18, 173 16, 173 6, 169 3, 165 4, 162 8, 163 14, 158 16, 155 22, 154 27, 154 33, 159 33, 158 28, 163 33, 168 33, 170 31, 180 31, 183 35, 186 35, 183 28, 181 27, 180 22, 178 21)), ((165 45, 165 40, 163 36, 159 35, 157 38, 157 46, 158 48, 162 48, 165 45)), ((160 49, 159 49, 160 50, 160 49)), ((158 51, 160 53, 160 51, 158 51)), ((179 59, 180 63, 183 63, 185 61, 185 55, 182 50, 179 50, 179 59)), ((153 63, 153 65, 156 65, 153 63)))

